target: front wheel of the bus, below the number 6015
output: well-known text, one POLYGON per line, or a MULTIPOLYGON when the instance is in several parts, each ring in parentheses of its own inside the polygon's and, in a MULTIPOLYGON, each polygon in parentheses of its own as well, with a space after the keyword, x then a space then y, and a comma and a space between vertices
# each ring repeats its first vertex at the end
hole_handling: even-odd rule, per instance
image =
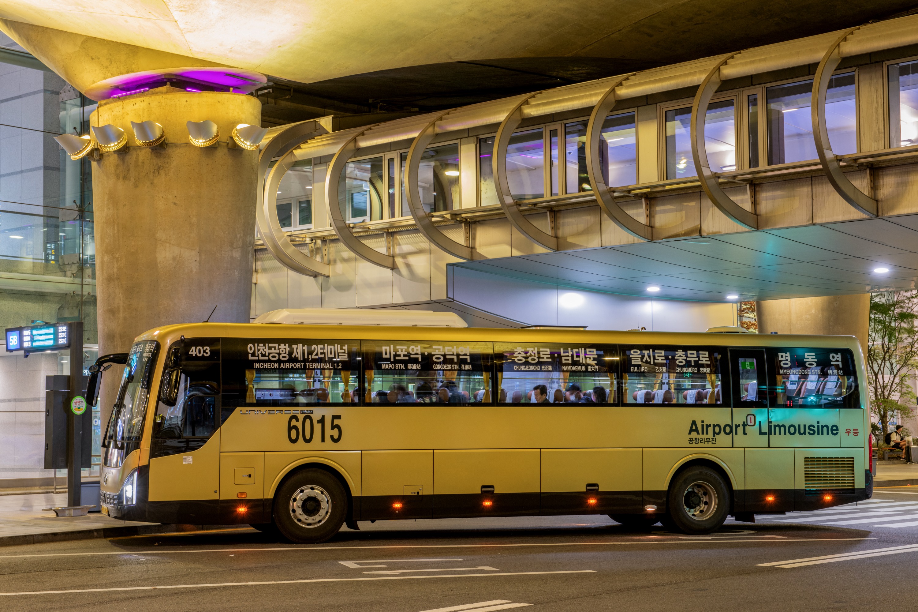
POLYGON ((274 496, 274 525, 298 544, 324 542, 341 529, 347 497, 341 482, 324 470, 302 470, 274 496))

